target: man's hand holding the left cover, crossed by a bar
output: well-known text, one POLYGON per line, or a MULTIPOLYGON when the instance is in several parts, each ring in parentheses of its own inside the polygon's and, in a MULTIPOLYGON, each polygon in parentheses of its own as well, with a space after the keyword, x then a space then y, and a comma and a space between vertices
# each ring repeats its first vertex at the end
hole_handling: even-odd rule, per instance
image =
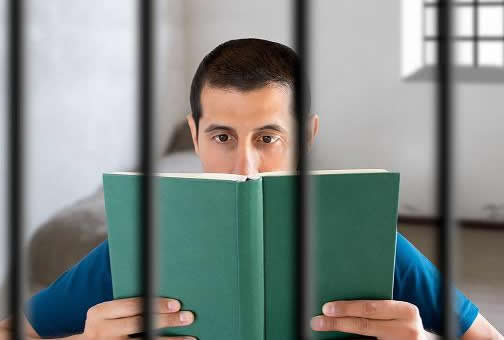
MULTIPOLYGON (((154 320, 156 328, 187 326, 194 321, 190 311, 180 311, 180 302, 158 298, 154 320)), ((108 301, 88 310, 82 338, 85 340, 123 340, 128 335, 143 331, 142 298, 108 301)), ((162 339, 187 339, 193 337, 163 337, 162 339)))

